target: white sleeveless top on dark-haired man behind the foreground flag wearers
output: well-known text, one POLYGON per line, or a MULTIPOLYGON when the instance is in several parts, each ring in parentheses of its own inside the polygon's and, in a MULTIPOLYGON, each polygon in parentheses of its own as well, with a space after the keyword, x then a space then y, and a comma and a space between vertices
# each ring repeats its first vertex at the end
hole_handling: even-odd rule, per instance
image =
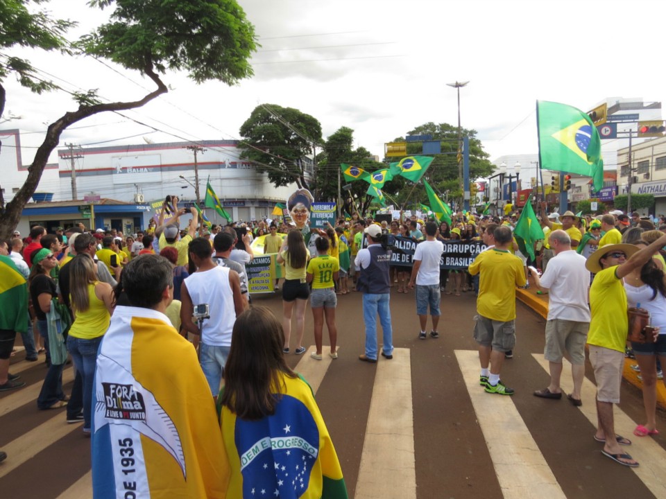
POLYGON ((208 304, 209 319, 203 320, 201 342, 212 347, 230 347, 236 322, 234 295, 229 284, 229 268, 219 267, 194 272, 185 281, 192 305, 208 304))

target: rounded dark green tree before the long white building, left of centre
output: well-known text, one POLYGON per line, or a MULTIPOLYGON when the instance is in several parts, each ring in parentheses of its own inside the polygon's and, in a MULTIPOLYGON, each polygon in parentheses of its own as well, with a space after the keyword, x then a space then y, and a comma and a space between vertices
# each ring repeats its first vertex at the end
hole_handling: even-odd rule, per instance
POLYGON ((321 123, 313 116, 275 104, 255 107, 241 125, 241 157, 268 173, 275 187, 296 182, 299 189, 310 189, 306 178, 307 158, 321 143, 321 123))

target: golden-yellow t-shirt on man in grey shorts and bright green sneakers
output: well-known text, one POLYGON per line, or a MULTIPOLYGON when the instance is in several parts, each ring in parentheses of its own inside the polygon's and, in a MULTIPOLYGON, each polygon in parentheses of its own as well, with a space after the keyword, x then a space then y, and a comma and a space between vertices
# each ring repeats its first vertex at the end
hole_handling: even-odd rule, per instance
POLYGON ((515 287, 527 282, 518 256, 502 249, 488 249, 479 253, 468 272, 479 274, 477 312, 501 322, 515 319, 515 287))

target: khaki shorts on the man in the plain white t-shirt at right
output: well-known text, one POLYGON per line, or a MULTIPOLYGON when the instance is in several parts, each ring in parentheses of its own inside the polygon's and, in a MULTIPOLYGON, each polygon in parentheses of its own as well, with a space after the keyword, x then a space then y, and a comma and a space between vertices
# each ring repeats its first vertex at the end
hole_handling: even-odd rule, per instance
POLYGON ((550 319, 546 322, 546 344, 543 357, 549 362, 562 362, 564 352, 569 352, 573 365, 585 364, 585 344, 588 340, 589 322, 567 319, 550 319))

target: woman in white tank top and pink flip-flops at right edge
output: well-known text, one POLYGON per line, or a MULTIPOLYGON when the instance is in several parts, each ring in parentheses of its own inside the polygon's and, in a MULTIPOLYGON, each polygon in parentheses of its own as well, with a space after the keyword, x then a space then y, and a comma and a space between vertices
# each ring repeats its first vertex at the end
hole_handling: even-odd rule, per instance
MULTIPOLYGON (((636 246, 644 247, 647 243, 639 241, 636 246)), ((654 343, 631 342, 631 349, 638 362, 642 381, 643 405, 646 423, 636 426, 633 434, 637 437, 657 435, 657 358, 661 365, 666 362, 666 283, 664 272, 654 259, 633 270, 624 277, 624 290, 629 307, 640 304, 650 313, 650 325, 659 328, 659 335, 654 343)), ((666 383, 666 382, 665 382, 666 383)))

